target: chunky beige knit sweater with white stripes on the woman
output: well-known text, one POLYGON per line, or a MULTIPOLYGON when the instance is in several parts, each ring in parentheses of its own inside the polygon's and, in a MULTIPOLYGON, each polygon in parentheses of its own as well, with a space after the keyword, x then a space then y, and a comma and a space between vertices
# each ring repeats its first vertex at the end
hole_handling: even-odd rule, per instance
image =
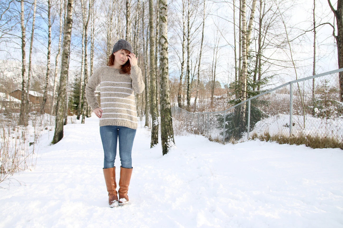
POLYGON ((120 69, 101 66, 92 74, 86 86, 86 97, 92 110, 99 107, 95 89, 100 84, 100 102, 103 110, 99 126, 115 125, 137 129, 137 111, 134 92, 144 89, 141 69, 131 67, 131 74, 120 74, 120 69))

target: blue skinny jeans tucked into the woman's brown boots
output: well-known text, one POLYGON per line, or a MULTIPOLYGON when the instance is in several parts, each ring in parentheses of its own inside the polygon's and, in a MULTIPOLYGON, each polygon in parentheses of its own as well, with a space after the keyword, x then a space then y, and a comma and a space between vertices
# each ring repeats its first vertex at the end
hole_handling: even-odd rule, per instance
POLYGON ((104 169, 114 167, 119 138, 119 157, 121 167, 132 168, 131 151, 136 129, 122 126, 101 126, 100 136, 104 148, 104 169))

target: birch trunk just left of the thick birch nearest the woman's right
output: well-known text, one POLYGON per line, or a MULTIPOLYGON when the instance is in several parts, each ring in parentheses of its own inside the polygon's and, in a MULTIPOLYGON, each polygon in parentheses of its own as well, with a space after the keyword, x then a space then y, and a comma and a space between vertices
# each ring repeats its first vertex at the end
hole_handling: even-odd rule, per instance
POLYGON ((158 143, 158 118, 156 102, 156 77, 155 77, 155 56, 154 56, 154 14, 153 0, 149 0, 149 41, 150 41, 150 113, 152 118, 150 148, 158 143))

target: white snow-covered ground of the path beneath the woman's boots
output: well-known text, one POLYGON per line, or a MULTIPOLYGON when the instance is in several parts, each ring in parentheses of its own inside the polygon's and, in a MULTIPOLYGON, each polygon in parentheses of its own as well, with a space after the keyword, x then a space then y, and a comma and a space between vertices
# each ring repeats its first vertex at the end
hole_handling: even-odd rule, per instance
POLYGON ((64 129, 55 145, 53 131, 42 136, 35 168, 1 184, 0 227, 343 227, 340 149, 179 136, 162 156, 139 127, 130 204, 110 208, 97 118, 64 129))

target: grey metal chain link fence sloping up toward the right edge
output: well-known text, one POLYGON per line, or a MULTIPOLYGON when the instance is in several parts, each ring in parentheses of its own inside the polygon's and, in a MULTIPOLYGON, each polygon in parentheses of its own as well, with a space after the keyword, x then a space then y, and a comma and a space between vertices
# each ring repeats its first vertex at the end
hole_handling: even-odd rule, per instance
POLYGON ((343 149, 338 74, 342 71, 290 81, 221 112, 192 113, 172 107, 174 132, 203 135, 222 143, 259 138, 343 149))

